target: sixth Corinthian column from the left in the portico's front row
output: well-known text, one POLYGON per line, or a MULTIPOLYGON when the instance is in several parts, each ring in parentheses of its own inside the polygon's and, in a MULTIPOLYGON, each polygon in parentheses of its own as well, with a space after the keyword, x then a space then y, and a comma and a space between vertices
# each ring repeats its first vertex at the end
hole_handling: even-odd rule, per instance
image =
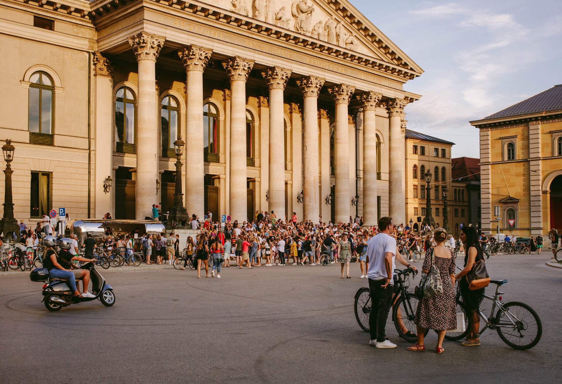
MULTIPOLYGON (((347 126, 347 106, 355 92, 346 84, 334 85, 328 89, 336 104, 336 134, 334 135, 334 162, 336 166, 336 223, 347 223, 350 218, 350 165, 348 158, 349 128, 347 126)), ((334 204, 334 203, 332 203, 334 204)))

